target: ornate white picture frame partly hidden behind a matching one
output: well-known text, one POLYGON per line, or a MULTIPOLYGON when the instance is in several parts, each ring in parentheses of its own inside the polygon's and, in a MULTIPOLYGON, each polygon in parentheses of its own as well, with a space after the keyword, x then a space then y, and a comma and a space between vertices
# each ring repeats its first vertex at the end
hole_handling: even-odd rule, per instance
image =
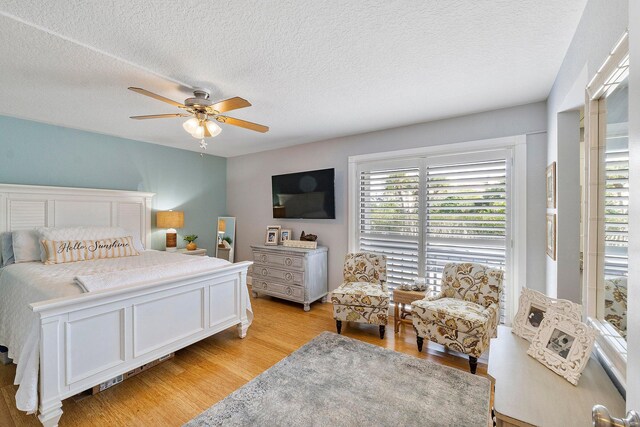
POLYGON ((547 312, 556 312, 575 321, 582 320, 582 306, 573 301, 550 298, 542 292, 522 288, 518 312, 513 318, 511 332, 532 341, 540 329, 547 312))

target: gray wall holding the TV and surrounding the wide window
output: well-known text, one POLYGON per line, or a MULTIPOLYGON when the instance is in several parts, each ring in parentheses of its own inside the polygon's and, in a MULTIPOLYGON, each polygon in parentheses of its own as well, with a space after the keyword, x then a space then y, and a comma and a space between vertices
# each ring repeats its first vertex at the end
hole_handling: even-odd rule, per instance
MULTIPOLYGON (((329 288, 342 282, 347 252, 347 159, 349 156, 465 142, 502 136, 527 138, 527 286, 544 290, 544 169, 546 164, 546 104, 544 102, 416 124, 279 150, 233 157, 227 163, 227 208, 238 218, 237 260, 251 259, 250 245, 263 243, 267 225, 318 235, 329 248, 329 288), (274 220, 271 176, 321 168, 336 169, 335 220, 274 220)), ((517 237, 517 236, 516 236, 517 237)), ((521 284, 521 286, 524 284, 521 284)))

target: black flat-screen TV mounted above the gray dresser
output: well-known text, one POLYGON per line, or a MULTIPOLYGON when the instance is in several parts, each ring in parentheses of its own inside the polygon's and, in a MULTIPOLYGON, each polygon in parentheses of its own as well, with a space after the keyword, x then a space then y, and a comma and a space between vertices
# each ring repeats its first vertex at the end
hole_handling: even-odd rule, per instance
POLYGON ((335 219, 334 169, 271 177, 274 218, 335 219))

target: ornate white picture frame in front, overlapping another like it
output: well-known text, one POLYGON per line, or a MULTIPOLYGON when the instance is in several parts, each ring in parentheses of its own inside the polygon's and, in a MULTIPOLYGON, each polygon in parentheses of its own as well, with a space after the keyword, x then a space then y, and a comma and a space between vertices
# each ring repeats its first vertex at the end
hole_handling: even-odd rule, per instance
POLYGON ((557 312, 549 312, 540 324, 527 354, 573 385, 587 366, 596 330, 557 312))

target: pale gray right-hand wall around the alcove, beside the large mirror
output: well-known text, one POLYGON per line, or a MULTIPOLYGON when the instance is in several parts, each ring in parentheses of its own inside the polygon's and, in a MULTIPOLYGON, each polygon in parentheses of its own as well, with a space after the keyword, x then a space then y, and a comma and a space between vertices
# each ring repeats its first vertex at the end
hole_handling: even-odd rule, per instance
MULTIPOLYGON (((558 258, 546 259, 547 294, 582 302, 578 263, 580 156, 575 111, 584 90, 627 28, 628 0, 589 0, 547 100, 547 161, 557 162, 558 258)), ((579 138, 579 137, 578 137, 579 138)))

